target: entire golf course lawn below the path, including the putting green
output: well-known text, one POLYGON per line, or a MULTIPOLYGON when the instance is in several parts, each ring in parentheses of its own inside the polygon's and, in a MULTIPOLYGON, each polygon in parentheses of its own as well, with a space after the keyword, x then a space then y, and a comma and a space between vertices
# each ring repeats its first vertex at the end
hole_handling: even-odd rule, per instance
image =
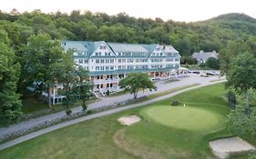
POLYGON ((225 127, 229 108, 224 92, 224 84, 214 84, 74 124, 5 149, 0 158, 215 158, 208 142, 230 135, 225 127), (174 100, 187 106, 170 106, 174 100), (118 117, 128 114, 138 114, 142 121, 119 124, 118 117))

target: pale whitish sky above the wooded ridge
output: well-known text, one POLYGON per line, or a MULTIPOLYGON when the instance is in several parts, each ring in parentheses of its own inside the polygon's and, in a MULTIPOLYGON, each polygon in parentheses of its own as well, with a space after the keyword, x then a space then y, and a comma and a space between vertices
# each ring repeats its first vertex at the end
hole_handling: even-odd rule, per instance
POLYGON ((0 0, 0 10, 5 12, 13 8, 21 13, 35 9, 45 13, 80 10, 182 22, 206 20, 227 13, 256 17, 255 6, 255 0, 0 0))

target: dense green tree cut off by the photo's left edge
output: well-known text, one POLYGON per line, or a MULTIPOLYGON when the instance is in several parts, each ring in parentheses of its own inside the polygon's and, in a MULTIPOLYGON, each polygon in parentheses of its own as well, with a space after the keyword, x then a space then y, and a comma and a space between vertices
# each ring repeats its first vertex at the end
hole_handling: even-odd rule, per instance
POLYGON ((17 122, 22 114, 19 94, 15 93, 20 65, 7 39, 0 29, 0 124, 17 122))

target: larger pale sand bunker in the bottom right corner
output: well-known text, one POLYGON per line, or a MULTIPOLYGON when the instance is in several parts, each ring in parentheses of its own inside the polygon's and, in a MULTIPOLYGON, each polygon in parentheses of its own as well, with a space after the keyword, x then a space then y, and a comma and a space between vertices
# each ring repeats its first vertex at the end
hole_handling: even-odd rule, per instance
POLYGON ((255 150, 251 144, 240 137, 230 137, 210 142, 213 153, 219 158, 226 158, 231 153, 255 150))

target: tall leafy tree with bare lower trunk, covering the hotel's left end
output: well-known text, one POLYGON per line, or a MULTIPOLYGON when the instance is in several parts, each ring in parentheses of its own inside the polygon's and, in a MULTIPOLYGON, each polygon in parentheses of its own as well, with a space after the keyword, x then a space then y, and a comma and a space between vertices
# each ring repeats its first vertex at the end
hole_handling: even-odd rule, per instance
POLYGON ((64 57, 65 53, 60 43, 51 40, 49 35, 32 35, 24 47, 23 58, 26 60, 26 83, 36 85, 36 92, 48 92, 48 104, 51 108, 51 87, 56 84, 56 75, 53 75, 55 66, 64 57))

